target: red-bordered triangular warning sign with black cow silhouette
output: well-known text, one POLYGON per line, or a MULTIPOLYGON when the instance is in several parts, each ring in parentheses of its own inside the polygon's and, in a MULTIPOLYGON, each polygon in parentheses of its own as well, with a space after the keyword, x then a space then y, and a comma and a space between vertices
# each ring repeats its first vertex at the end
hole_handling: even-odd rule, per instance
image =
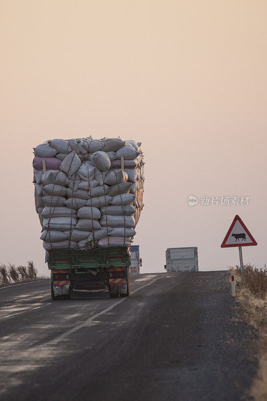
POLYGON ((245 227, 240 217, 236 215, 224 240, 222 241, 221 248, 248 247, 249 245, 257 245, 257 243, 245 227))

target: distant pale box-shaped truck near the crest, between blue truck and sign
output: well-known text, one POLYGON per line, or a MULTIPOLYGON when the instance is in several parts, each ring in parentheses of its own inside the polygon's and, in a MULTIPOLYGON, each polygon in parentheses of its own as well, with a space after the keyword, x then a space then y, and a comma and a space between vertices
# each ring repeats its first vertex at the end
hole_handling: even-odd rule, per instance
POLYGON ((168 248, 164 268, 167 272, 198 272, 197 247, 168 248))

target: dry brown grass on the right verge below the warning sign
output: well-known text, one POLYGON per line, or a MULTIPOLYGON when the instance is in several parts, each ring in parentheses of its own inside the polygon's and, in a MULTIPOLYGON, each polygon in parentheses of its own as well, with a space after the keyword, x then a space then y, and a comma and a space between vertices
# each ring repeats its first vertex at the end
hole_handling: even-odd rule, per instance
POLYGON ((255 401, 267 400, 267 270, 244 266, 244 281, 238 266, 231 269, 236 281, 236 300, 239 302, 239 317, 254 326, 259 333, 259 370, 254 379, 250 395, 255 401))

